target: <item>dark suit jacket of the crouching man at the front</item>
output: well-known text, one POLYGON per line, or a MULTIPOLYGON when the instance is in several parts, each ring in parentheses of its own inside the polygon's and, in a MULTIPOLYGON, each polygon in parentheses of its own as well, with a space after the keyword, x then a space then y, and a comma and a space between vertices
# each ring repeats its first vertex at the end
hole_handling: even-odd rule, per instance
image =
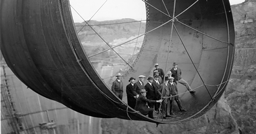
POLYGON ((143 115, 147 115, 149 111, 151 111, 150 109, 152 109, 152 108, 148 108, 147 103, 155 103, 155 102, 157 101, 147 99, 146 97, 140 94, 140 96, 136 99, 136 105, 134 109, 136 111, 140 111, 140 113, 143 115))

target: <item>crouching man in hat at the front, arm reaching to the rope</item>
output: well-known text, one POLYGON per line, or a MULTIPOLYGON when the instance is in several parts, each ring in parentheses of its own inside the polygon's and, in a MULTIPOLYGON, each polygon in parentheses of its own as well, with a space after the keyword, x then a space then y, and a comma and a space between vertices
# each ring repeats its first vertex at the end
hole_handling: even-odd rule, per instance
POLYGON ((149 115, 149 118, 154 119, 153 116, 153 108, 149 108, 147 106, 147 103, 161 103, 163 100, 150 100, 146 98, 147 96, 147 91, 145 89, 140 90, 140 95, 139 97, 136 99, 136 105, 135 105, 135 110, 136 111, 140 111, 141 114, 143 115, 149 115))

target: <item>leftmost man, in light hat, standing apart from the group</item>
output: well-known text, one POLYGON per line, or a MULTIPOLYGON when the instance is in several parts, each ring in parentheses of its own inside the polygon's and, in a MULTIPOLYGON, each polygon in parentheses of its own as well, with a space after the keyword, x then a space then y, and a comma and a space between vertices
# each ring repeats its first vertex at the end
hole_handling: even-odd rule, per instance
POLYGON ((121 80, 121 73, 116 75, 116 80, 113 81, 111 90, 115 93, 115 95, 122 100, 123 98, 123 82, 121 80))

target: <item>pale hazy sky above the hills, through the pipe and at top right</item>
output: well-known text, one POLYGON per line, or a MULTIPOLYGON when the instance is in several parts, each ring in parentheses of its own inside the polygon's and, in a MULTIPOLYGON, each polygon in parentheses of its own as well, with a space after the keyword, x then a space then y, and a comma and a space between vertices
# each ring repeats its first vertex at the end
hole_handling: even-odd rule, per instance
MULTIPOLYGON (((89 20, 106 0, 70 0, 70 5, 85 19, 89 20)), ((244 0, 229 0, 230 4, 239 4, 244 0)), ((72 9, 72 8, 71 8, 72 9)), ((83 19, 72 9, 75 22, 83 19)), ((142 0, 107 0, 92 20, 105 21, 131 18, 144 20, 146 18, 145 3, 142 0)))

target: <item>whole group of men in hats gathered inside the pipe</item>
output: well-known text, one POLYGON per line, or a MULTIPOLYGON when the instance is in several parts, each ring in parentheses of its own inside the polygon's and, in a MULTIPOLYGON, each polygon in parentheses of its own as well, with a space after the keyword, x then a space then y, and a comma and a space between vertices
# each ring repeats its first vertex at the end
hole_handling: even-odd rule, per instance
MULTIPOLYGON (((149 118, 154 119, 153 111, 159 112, 160 103, 162 103, 161 111, 163 118, 171 117, 173 115, 174 101, 178 104, 180 111, 186 111, 182 107, 180 98, 178 96, 177 84, 178 82, 188 89, 190 93, 194 93, 188 82, 181 77, 181 70, 178 64, 173 63, 173 68, 167 72, 165 76, 163 69, 155 64, 153 70, 153 77, 147 78, 148 82, 144 85, 145 76, 138 76, 139 80, 135 82, 135 78, 131 77, 128 81, 130 84, 126 86, 128 105, 143 115, 149 115, 149 118)), ((111 90, 122 99, 123 83, 121 80, 122 75, 117 74, 117 79, 112 83, 111 90)))

